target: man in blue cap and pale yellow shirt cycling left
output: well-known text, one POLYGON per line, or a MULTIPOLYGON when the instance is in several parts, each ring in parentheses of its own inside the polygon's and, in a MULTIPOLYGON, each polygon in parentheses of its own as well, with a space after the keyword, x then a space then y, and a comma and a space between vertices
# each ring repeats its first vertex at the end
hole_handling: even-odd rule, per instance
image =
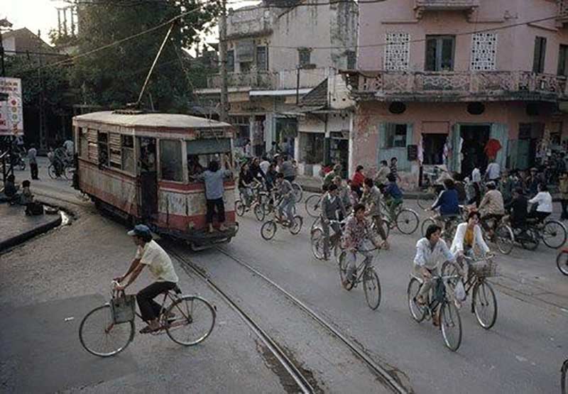
POLYGON ((148 269, 155 278, 155 282, 136 294, 136 301, 138 302, 142 319, 148 323, 148 326, 141 329, 140 333, 147 334, 160 329, 158 316, 160 315, 161 306, 158 302, 155 302, 153 298, 175 288, 178 285, 179 279, 173 268, 170 256, 152 239, 152 233, 150 229, 148 229, 148 226, 137 224, 128 234, 132 237, 136 246, 138 246, 136 256, 129 270, 119 278, 114 278, 114 280, 120 283, 116 287, 116 290, 124 290, 138 278, 138 275, 140 275, 144 267, 148 266, 148 269), (128 278, 129 275, 130 278, 128 282, 122 285, 122 282, 128 278))

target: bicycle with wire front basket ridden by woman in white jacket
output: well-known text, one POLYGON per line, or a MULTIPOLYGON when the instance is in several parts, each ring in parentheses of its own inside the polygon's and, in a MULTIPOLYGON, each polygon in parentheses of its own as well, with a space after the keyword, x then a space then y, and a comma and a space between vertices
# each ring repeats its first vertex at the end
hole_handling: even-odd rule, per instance
MULTIPOLYGON (((491 329, 497 320, 497 298, 491 283, 488 283, 486 279, 496 276, 497 264, 493 262, 493 256, 486 256, 486 258, 464 256, 464 260, 468 263, 470 270, 464 283, 466 297, 473 289, 471 313, 475 314, 481 327, 491 329)), ((446 266, 446 269, 448 275, 456 275, 461 270, 454 264, 446 266)))

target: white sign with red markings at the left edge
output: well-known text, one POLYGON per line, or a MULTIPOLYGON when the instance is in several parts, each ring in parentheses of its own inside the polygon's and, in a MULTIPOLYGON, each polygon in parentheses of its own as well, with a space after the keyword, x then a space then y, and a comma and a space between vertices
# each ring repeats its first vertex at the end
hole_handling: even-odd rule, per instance
POLYGON ((22 135, 22 81, 0 77, 0 136, 22 135))

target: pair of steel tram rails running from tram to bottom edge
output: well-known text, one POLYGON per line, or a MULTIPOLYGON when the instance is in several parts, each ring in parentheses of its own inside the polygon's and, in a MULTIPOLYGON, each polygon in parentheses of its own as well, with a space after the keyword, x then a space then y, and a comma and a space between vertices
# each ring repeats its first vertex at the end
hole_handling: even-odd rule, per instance
MULTIPOLYGON (((331 336, 333 336, 344 346, 346 346, 349 349, 349 351, 351 351, 351 353, 354 354, 354 356, 356 356, 357 359, 361 360, 378 378, 378 380, 380 380, 381 383, 386 385, 386 387, 390 388, 393 391, 393 393, 412 392, 411 390, 405 388, 400 383, 400 381, 398 381, 397 378, 395 378, 393 375, 391 375, 391 373, 389 373, 389 371, 385 367, 381 366, 379 363, 374 361, 371 358, 371 356, 369 356, 364 350, 361 349, 361 346, 359 346, 354 341, 349 339, 347 336, 339 332, 339 330, 333 327, 332 324, 330 324, 323 317, 321 317, 320 314, 317 314, 317 312, 315 312, 310 307, 305 305, 304 302, 298 300, 297 297, 295 297, 290 292, 282 288, 280 285, 278 285, 278 283, 275 283, 273 280, 268 278, 266 275, 261 273, 256 268, 250 266, 248 263, 242 261, 239 258, 236 258, 235 256, 231 256, 231 254, 224 251, 224 249, 220 247, 217 247, 216 249, 217 251, 219 251, 219 253, 222 253, 224 254, 224 256, 229 257, 232 261, 239 264, 239 266, 246 268, 246 270, 249 270, 258 278, 261 278, 263 281, 265 281, 273 288, 275 288, 278 292, 280 292, 280 294, 288 298, 288 300, 290 300, 290 302, 292 302, 293 305, 300 308, 302 312, 310 316, 317 324, 319 324, 327 332, 329 332, 331 336)), ((231 307, 231 309, 233 309, 237 314, 239 314, 239 317, 241 317, 241 319, 243 319, 244 322, 246 322, 246 324, 252 329, 252 331, 255 332, 255 334, 261 339, 261 341, 263 341, 263 343, 266 344, 267 348, 274 354, 276 359, 278 359, 280 364, 290 374, 290 377, 293 378, 293 380, 297 383, 300 390, 302 390, 302 393, 315 393, 315 388, 312 386, 312 384, 310 384, 309 379, 302 373, 302 368, 296 366, 295 362, 291 360, 282 349, 280 349, 278 344, 276 344, 275 341, 271 339, 271 337, 258 324, 256 324, 256 322, 253 321, 253 319, 251 319, 249 314, 244 312, 244 310, 242 310, 241 307, 239 307, 239 305, 236 304, 236 302, 231 300, 231 297, 229 297, 229 295, 227 295, 226 292, 224 292, 221 288, 219 288, 219 286, 217 286, 209 278, 209 276, 203 272, 203 270, 199 266, 195 265, 195 263, 193 263, 189 258, 181 256, 180 253, 173 251, 172 248, 167 248, 167 251, 175 258, 178 258, 179 261, 184 263, 182 265, 184 269, 192 270, 193 273, 199 275, 200 278, 202 278, 207 283, 207 285, 209 285, 209 287, 212 288, 212 290, 214 290, 214 292, 216 292, 218 295, 222 297, 222 299, 231 307)))

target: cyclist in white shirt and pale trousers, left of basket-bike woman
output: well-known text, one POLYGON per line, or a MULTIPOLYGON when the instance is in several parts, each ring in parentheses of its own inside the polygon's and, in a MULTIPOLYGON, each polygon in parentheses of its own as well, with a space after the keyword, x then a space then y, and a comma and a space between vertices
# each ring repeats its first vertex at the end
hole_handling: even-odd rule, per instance
MULTIPOLYGON (((432 276, 439 276, 443 263, 455 261, 456 258, 449 251, 446 242, 440 239, 442 228, 437 224, 430 224, 426 229, 426 236, 416 243, 416 256, 414 258, 414 273, 422 278, 422 286, 418 291, 416 302, 418 305, 426 304, 427 293, 434 284, 432 276)), ((439 326, 439 311, 432 316, 432 323, 439 326)))

